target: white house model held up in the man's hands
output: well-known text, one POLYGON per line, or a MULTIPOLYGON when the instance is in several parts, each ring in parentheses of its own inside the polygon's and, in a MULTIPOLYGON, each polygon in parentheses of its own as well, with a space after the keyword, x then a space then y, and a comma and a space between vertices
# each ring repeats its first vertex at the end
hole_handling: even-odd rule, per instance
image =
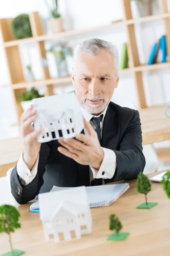
POLYGON ((42 129, 39 142, 73 138, 83 130, 81 106, 75 93, 37 98, 32 103, 37 109, 34 127, 42 129))

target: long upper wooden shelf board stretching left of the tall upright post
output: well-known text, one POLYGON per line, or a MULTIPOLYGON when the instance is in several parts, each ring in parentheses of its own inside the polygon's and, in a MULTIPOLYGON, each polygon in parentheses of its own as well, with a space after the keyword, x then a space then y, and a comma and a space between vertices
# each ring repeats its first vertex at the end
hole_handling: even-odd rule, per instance
POLYGON ((41 41, 46 41, 46 40, 51 40, 51 39, 66 38, 66 37, 73 36, 73 35, 81 35, 81 34, 85 34, 85 33, 89 33, 89 32, 95 32, 98 30, 110 29, 113 26, 119 26, 122 24, 124 24, 124 22, 122 20, 119 20, 119 21, 115 21, 108 25, 93 27, 93 28, 89 28, 89 29, 75 29, 75 30, 59 32, 57 34, 40 35, 40 36, 35 36, 32 38, 24 38, 24 39, 8 41, 8 42, 4 42, 3 46, 4 47, 13 47, 13 46, 20 45, 20 44, 28 44, 28 43, 41 42, 41 41))

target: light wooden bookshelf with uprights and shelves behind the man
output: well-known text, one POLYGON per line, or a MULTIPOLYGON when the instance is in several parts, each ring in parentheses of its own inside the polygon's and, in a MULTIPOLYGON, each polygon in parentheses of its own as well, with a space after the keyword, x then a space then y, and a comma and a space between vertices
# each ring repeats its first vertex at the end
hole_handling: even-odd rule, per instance
POLYGON ((16 40, 14 35, 11 32, 10 25, 12 18, 0 19, 0 30, 3 38, 3 48, 6 55, 8 72, 10 76, 10 86, 14 96, 14 103, 17 111, 18 121, 22 114, 22 108, 20 102, 17 101, 17 95, 24 93, 27 87, 43 85, 45 87, 45 96, 53 95, 53 84, 62 84, 71 82, 71 77, 64 78, 51 78, 49 75, 48 67, 42 65, 43 79, 40 81, 26 82, 23 76, 23 69, 20 60, 19 46, 20 44, 36 43, 37 49, 40 54, 40 59, 46 58, 44 42, 52 39, 61 39, 69 38, 74 35, 81 35, 88 32, 100 31, 103 29, 109 29, 113 26, 124 26, 127 33, 127 51, 129 57, 130 67, 125 70, 120 70, 119 73, 128 73, 130 72, 133 76, 136 86, 136 94, 138 98, 139 109, 147 108, 146 98, 144 93, 144 85, 142 79, 142 72, 149 70, 157 70, 161 68, 170 67, 170 12, 167 8, 167 0, 160 0, 160 15, 141 17, 139 19, 133 19, 132 12, 130 9, 130 1, 122 0, 122 5, 124 9, 124 18, 123 20, 115 21, 111 24, 105 26, 98 26, 89 29, 77 29, 70 30, 65 32, 59 32, 52 35, 44 35, 40 17, 37 12, 30 14, 30 23, 32 30, 32 38, 25 38, 16 40), (157 19, 163 19, 166 40, 167 40, 167 55, 169 56, 169 61, 166 63, 158 63, 153 65, 141 65, 139 61, 139 54, 136 44, 136 35, 135 35, 135 24, 142 23, 157 19))

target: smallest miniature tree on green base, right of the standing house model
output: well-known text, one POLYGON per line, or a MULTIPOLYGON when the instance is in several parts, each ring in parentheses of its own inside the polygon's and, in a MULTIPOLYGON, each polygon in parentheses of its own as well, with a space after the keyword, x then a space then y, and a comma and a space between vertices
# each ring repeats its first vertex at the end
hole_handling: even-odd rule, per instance
POLYGON ((119 218, 116 217, 116 215, 111 214, 109 218, 110 218, 109 229, 110 230, 116 230, 116 232, 111 234, 111 236, 109 236, 107 240, 109 240, 109 241, 122 241, 122 240, 124 240, 130 233, 120 232, 120 230, 122 229, 122 224, 119 221, 119 218))

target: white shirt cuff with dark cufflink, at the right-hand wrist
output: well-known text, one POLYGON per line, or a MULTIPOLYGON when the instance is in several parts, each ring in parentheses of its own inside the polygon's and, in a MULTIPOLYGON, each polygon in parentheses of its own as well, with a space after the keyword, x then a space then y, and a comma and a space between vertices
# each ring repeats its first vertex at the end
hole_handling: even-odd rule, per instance
POLYGON ((113 150, 108 148, 102 148, 104 151, 104 158, 100 169, 94 169, 90 166, 93 172, 94 179, 111 179, 114 176, 116 170, 116 154, 113 150))

